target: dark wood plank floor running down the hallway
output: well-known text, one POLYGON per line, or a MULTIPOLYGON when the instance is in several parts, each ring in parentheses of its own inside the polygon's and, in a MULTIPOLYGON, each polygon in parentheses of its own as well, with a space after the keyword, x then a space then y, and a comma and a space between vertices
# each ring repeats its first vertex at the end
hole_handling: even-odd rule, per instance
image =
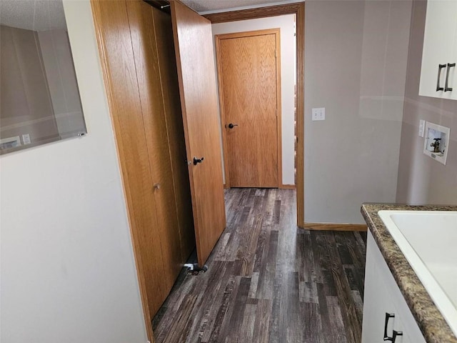
POLYGON ((227 228, 154 318, 162 342, 361 342, 366 234, 296 227, 295 191, 229 189, 227 228))

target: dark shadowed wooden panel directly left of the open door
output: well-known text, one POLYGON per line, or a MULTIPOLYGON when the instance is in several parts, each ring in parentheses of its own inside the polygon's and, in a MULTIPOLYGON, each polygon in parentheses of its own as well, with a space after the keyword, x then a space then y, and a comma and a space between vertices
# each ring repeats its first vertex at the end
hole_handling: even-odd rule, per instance
POLYGON ((195 248, 191 187, 186 165, 183 117, 179 101, 178 71, 174 53, 171 16, 152 8, 161 75, 162 96, 169 139, 171 166, 175 185, 176 209, 181 237, 181 260, 184 262, 195 248))

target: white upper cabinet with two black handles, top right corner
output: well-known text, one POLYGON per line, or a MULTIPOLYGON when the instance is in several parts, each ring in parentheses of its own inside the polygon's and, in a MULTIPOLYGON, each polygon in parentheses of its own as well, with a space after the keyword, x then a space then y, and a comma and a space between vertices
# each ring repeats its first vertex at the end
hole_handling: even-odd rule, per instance
POLYGON ((457 0, 428 0, 419 95, 457 99, 457 0))

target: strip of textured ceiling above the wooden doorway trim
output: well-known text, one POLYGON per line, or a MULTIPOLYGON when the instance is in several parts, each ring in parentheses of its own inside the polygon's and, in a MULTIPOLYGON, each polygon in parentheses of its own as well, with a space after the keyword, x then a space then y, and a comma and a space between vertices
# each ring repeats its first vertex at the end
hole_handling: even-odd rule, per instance
MULTIPOLYGON (((294 0, 181 0, 199 13, 229 11, 231 9, 243 9, 250 7, 259 7, 261 5, 271 6, 273 4, 288 4, 298 2, 294 0)), ((303 1, 303 0, 301 0, 303 1)))

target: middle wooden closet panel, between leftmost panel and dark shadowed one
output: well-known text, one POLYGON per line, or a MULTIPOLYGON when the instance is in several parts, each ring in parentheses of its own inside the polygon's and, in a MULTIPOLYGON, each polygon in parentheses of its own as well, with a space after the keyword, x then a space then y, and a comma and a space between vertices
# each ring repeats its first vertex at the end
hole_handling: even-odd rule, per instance
MULTIPOLYGON (((156 275, 170 290, 181 271, 181 244, 176 213, 164 99, 162 98, 159 59, 152 7, 144 1, 126 1, 136 77, 139 84, 144 134, 149 153, 164 274, 156 275)), ((170 42, 171 43, 171 42, 170 42)), ((168 292, 166 293, 168 295, 168 292)), ((162 301, 165 300, 166 295, 162 301)))

